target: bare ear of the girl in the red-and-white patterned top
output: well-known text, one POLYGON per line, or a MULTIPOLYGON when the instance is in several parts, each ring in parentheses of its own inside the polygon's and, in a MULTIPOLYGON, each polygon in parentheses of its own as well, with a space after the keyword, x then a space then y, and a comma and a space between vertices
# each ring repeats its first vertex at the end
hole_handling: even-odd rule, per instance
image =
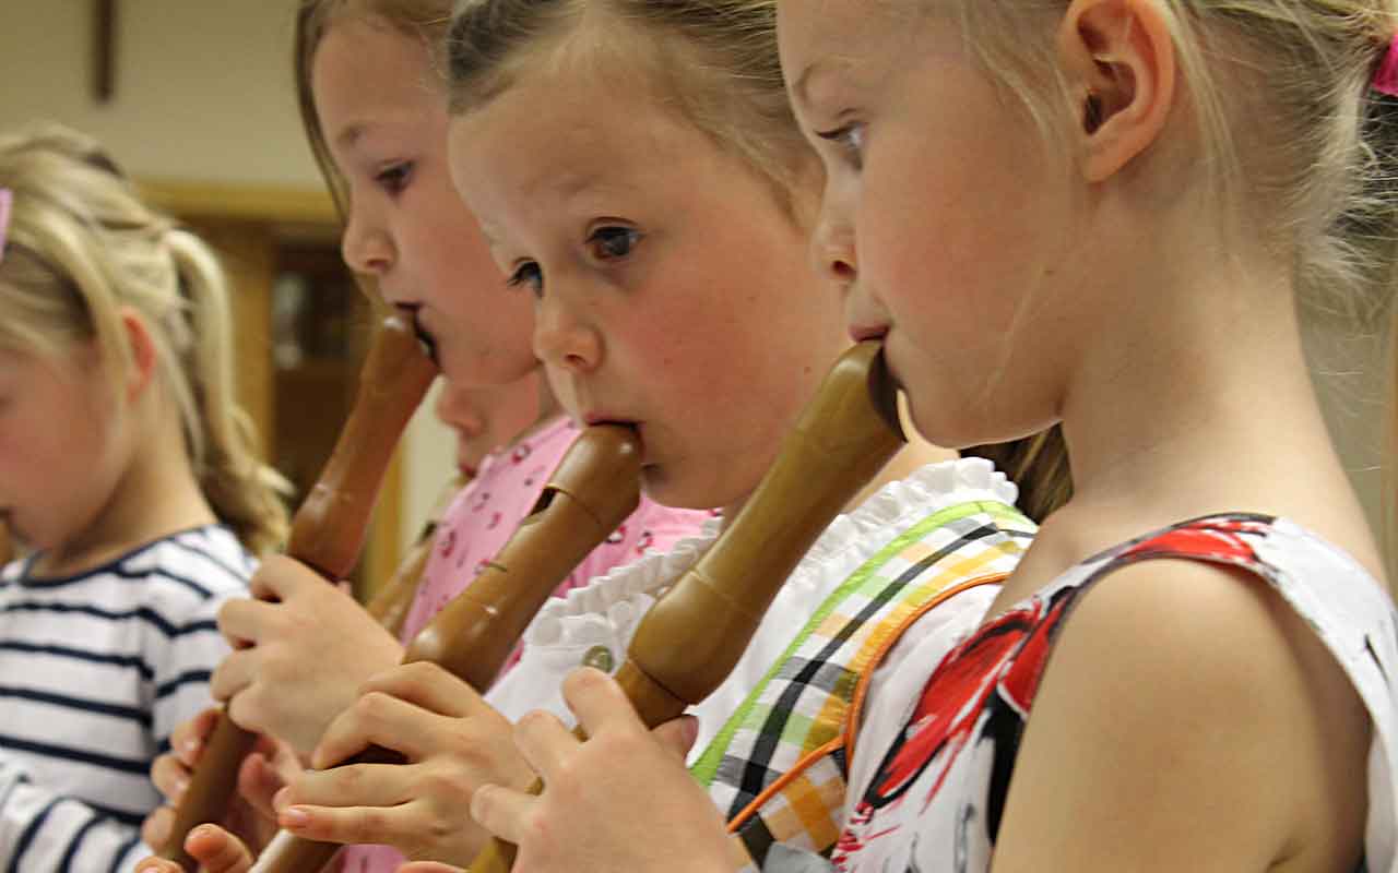
POLYGON ((1074 0, 1057 42, 1078 102, 1082 172, 1103 182, 1160 137, 1174 103, 1174 41, 1151 0, 1074 0))

